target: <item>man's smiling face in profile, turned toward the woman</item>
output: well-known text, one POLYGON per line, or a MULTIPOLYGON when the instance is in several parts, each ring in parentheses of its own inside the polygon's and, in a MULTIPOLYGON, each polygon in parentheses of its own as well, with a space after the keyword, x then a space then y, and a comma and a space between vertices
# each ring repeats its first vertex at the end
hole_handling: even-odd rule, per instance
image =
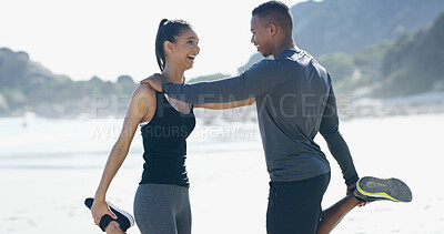
POLYGON ((263 57, 271 55, 271 32, 268 27, 264 27, 263 20, 258 16, 253 16, 251 19, 251 43, 258 48, 263 57))

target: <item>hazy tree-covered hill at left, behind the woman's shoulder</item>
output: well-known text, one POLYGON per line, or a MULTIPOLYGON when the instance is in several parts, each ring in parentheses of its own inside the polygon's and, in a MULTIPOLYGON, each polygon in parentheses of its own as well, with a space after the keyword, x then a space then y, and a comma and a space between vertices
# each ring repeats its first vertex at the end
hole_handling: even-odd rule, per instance
POLYGON ((134 87, 129 75, 115 83, 97 77, 72 81, 31 61, 26 52, 0 49, 0 115, 121 115, 127 103, 119 106, 119 99, 128 99, 134 87))

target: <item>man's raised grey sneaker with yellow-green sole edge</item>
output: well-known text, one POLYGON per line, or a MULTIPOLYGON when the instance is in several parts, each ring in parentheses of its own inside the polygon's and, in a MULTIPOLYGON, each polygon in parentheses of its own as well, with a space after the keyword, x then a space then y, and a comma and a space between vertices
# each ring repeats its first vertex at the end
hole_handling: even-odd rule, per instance
POLYGON ((364 202, 389 200, 393 202, 411 202, 412 191, 397 179, 377 179, 365 176, 357 181, 354 196, 364 202))

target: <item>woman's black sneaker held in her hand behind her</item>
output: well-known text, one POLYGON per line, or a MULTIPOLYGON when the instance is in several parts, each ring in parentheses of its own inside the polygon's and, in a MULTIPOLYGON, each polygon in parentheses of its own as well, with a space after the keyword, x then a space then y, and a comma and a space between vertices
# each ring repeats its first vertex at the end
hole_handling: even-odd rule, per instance
MULTIPOLYGON (((91 208, 93 202, 94 202, 94 199, 92 199, 92 197, 88 197, 84 200, 84 204, 89 208, 91 208)), ((103 215, 99 223, 99 226, 103 232, 107 228, 108 224, 111 223, 111 221, 117 221, 120 225, 120 228, 123 232, 127 232, 128 228, 130 228, 131 226, 134 225, 134 217, 132 217, 132 215, 130 213, 118 208, 115 205, 111 204, 110 202, 107 202, 107 203, 110 206, 110 210, 118 216, 118 220, 112 218, 108 214, 103 215)))

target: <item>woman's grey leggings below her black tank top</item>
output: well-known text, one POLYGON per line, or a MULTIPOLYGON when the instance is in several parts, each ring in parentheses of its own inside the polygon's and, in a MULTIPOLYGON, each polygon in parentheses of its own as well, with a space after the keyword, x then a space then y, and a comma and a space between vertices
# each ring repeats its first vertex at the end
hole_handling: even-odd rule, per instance
POLYGON ((134 217, 142 234, 190 234, 189 189, 172 184, 140 184, 134 197, 134 217))

